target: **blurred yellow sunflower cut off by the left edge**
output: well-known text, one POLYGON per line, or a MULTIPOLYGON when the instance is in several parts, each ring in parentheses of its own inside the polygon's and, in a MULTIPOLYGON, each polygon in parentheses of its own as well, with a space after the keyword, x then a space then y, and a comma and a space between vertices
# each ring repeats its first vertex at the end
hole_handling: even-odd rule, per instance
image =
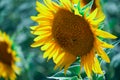
POLYGON ((5 80, 15 80, 16 73, 20 72, 20 68, 16 66, 19 58, 12 49, 12 42, 6 33, 0 31, 0 77, 5 80))

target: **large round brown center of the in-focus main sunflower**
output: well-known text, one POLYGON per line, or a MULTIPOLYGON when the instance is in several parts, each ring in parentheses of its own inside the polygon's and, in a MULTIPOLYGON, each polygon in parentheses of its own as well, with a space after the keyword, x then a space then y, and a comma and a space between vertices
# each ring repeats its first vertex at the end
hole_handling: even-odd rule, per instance
POLYGON ((54 16, 52 35, 68 53, 86 55, 93 48, 94 37, 88 22, 74 13, 60 9, 54 16))

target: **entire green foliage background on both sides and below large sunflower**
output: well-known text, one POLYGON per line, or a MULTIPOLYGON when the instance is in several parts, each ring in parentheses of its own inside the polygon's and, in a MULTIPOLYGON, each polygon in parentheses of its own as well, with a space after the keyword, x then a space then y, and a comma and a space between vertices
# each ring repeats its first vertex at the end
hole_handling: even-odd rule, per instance
MULTIPOLYGON (((63 70, 60 72, 55 71, 55 64, 52 60, 47 62, 46 59, 42 58, 43 52, 39 48, 34 49, 30 47, 35 37, 30 33, 30 26, 36 25, 30 19, 30 16, 37 14, 35 1, 0 0, 0 30, 11 36, 14 46, 16 46, 15 49, 21 58, 21 64, 18 65, 21 66, 22 71, 18 75, 17 80, 63 79, 63 70)), ((113 43, 115 48, 108 52, 111 63, 101 62, 102 68, 105 70, 105 77, 93 74, 93 80, 120 80, 120 0, 101 0, 101 4, 106 15, 105 27, 103 29, 110 31, 118 38, 113 43)), ((82 77, 83 80, 88 80, 84 71, 80 71, 80 65, 76 64, 68 69, 66 73, 67 79, 82 80, 82 77)))

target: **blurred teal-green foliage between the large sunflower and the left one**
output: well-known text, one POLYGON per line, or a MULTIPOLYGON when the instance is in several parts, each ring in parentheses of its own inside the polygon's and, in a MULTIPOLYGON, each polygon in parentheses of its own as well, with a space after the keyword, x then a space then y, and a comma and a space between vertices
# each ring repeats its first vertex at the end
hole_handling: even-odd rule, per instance
POLYGON ((36 23, 30 16, 36 15, 35 0, 0 0, 0 30, 10 35, 21 57, 21 75, 17 80, 47 80, 54 73, 52 61, 42 58, 39 48, 31 48, 34 36, 30 26, 36 23), (48 67, 49 65, 49 67, 48 67))

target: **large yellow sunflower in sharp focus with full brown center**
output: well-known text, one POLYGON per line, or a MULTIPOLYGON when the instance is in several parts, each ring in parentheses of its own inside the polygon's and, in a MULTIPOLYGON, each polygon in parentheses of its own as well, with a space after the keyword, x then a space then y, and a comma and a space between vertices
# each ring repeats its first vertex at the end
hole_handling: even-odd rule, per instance
POLYGON ((31 33, 37 35, 31 46, 41 46, 41 50, 45 51, 43 57, 48 57, 48 60, 53 58, 55 69, 64 68, 65 73, 76 58, 80 57, 81 66, 84 67, 88 77, 91 77, 92 71, 102 74, 96 55, 110 62, 102 48, 113 46, 101 41, 98 36, 116 38, 98 29, 104 16, 96 19, 97 9, 89 16, 82 16, 70 0, 60 0, 59 4, 44 0, 44 3, 45 5, 36 2, 36 10, 39 13, 31 17, 38 23, 37 26, 31 27, 31 33))

